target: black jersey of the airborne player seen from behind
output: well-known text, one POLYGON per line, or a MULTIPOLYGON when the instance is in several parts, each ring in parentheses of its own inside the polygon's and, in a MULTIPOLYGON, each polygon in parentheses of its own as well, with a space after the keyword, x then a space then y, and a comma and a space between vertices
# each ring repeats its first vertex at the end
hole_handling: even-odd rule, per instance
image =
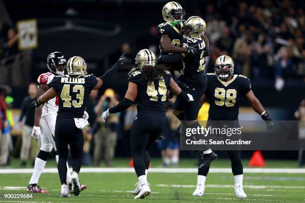
POLYGON ((182 81, 190 87, 203 87, 206 85, 206 77, 204 76, 205 57, 204 47, 205 43, 202 39, 186 38, 181 41, 182 47, 194 47, 198 49, 198 54, 192 57, 185 57, 183 59, 184 77, 182 81))

